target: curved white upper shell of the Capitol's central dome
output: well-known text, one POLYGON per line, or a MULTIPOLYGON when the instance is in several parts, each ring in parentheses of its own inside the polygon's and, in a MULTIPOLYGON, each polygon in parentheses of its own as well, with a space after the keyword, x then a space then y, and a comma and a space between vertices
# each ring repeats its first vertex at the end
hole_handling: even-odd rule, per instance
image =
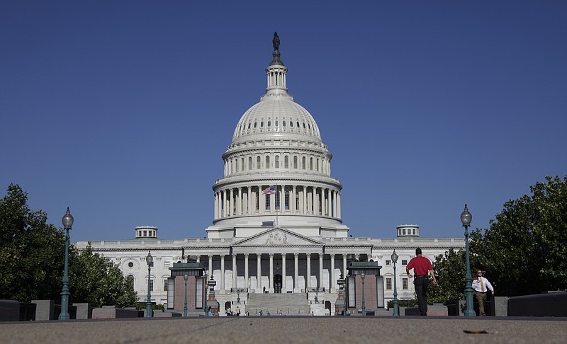
POLYGON ((287 94, 266 94, 240 118, 232 144, 251 139, 294 137, 321 142, 313 116, 287 94))

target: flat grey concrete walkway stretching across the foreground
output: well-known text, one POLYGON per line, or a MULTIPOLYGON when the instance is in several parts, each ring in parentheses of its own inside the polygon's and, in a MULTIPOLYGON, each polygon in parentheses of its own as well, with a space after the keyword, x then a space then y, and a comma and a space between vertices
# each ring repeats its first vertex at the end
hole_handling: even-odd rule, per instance
POLYGON ((567 343, 567 319, 231 316, 0 323, 2 343, 567 343))

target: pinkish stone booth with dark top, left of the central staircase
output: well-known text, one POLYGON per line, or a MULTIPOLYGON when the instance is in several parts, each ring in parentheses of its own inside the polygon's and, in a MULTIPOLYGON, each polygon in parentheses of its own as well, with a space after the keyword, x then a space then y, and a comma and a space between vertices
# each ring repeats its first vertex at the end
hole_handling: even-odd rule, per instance
POLYGON ((206 275, 201 263, 173 263, 172 276, 167 279, 167 309, 204 312, 206 275))

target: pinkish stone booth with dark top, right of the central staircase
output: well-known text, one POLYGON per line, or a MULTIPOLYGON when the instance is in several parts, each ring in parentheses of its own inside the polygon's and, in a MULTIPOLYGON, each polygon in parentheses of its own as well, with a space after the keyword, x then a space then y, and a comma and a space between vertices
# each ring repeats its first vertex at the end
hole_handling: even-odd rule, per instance
POLYGON ((354 261, 349 263, 346 279, 347 306, 363 316, 374 315, 374 310, 384 307, 384 283, 378 262, 354 261))

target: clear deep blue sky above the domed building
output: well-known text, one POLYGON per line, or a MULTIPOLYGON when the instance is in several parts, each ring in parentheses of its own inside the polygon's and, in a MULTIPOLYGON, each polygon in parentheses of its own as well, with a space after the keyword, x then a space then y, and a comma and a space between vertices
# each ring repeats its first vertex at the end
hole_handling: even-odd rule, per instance
POLYGON ((206 236, 277 30, 353 236, 461 237, 567 174, 566 1, 1 1, 0 195, 72 241, 206 236))

